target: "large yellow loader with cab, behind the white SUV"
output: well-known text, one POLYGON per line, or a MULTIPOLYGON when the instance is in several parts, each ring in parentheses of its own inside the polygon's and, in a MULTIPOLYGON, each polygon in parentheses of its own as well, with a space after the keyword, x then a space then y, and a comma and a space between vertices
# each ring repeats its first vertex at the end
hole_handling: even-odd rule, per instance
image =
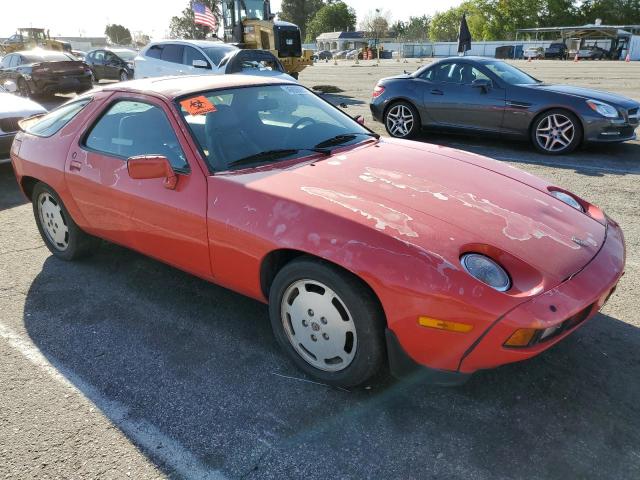
POLYGON ((274 18, 269 0, 222 0, 224 41, 240 48, 269 50, 297 79, 313 64, 312 51, 302 49, 297 25, 274 18))

